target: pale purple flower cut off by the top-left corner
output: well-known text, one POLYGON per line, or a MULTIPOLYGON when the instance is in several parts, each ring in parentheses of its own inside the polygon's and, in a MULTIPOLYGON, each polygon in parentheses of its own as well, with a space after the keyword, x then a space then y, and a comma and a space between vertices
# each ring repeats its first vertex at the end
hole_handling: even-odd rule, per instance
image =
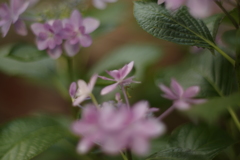
POLYGON ((5 37, 14 24, 15 31, 20 35, 27 35, 25 23, 20 19, 20 15, 27 9, 29 2, 23 0, 10 0, 10 7, 0 4, 0 27, 3 37, 5 37))

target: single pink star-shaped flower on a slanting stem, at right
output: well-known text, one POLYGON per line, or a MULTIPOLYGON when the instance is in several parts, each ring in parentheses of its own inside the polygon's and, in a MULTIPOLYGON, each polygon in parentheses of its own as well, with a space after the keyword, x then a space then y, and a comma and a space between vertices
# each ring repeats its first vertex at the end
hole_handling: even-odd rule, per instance
POLYGON ((189 107, 193 104, 206 102, 205 99, 193 98, 200 91, 199 86, 192 86, 184 91, 182 86, 175 79, 172 79, 170 88, 163 84, 160 84, 159 87, 164 92, 162 96, 164 98, 173 100, 173 106, 179 110, 189 109, 189 107))

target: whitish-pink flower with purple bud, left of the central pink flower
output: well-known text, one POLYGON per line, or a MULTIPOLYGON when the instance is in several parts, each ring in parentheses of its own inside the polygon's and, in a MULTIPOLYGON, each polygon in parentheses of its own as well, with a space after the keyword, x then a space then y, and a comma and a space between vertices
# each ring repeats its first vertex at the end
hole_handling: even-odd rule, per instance
POLYGON ((92 94, 97 77, 98 75, 94 74, 88 84, 83 80, 78 80, 78 89, 75 82, 70 85, 69 94, 73 99, 73 106, 78 106, 92 94))

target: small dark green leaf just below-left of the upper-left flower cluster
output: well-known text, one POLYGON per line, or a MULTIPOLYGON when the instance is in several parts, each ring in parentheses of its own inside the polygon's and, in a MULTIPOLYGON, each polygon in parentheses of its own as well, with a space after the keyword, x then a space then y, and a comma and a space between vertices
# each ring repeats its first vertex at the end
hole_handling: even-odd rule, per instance
POLYGON ((48 57, 44 51, 39 51, 35 46, 29 44, 16 44, 8 54, 8 58, 23 62, 37 61, 48 57))

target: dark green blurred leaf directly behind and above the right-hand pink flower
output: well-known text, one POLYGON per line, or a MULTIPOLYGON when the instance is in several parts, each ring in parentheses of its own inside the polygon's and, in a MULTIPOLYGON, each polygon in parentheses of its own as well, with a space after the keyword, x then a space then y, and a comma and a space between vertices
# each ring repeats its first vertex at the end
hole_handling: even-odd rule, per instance
POLYGON ((227 96, 235 83, 234 67, 220 54, 212 56, 204 50, 190 57, 180 65, 160 71, 156 83, 169 84, 176 78, 184 87, 200 86, 199 97, 227 96))

